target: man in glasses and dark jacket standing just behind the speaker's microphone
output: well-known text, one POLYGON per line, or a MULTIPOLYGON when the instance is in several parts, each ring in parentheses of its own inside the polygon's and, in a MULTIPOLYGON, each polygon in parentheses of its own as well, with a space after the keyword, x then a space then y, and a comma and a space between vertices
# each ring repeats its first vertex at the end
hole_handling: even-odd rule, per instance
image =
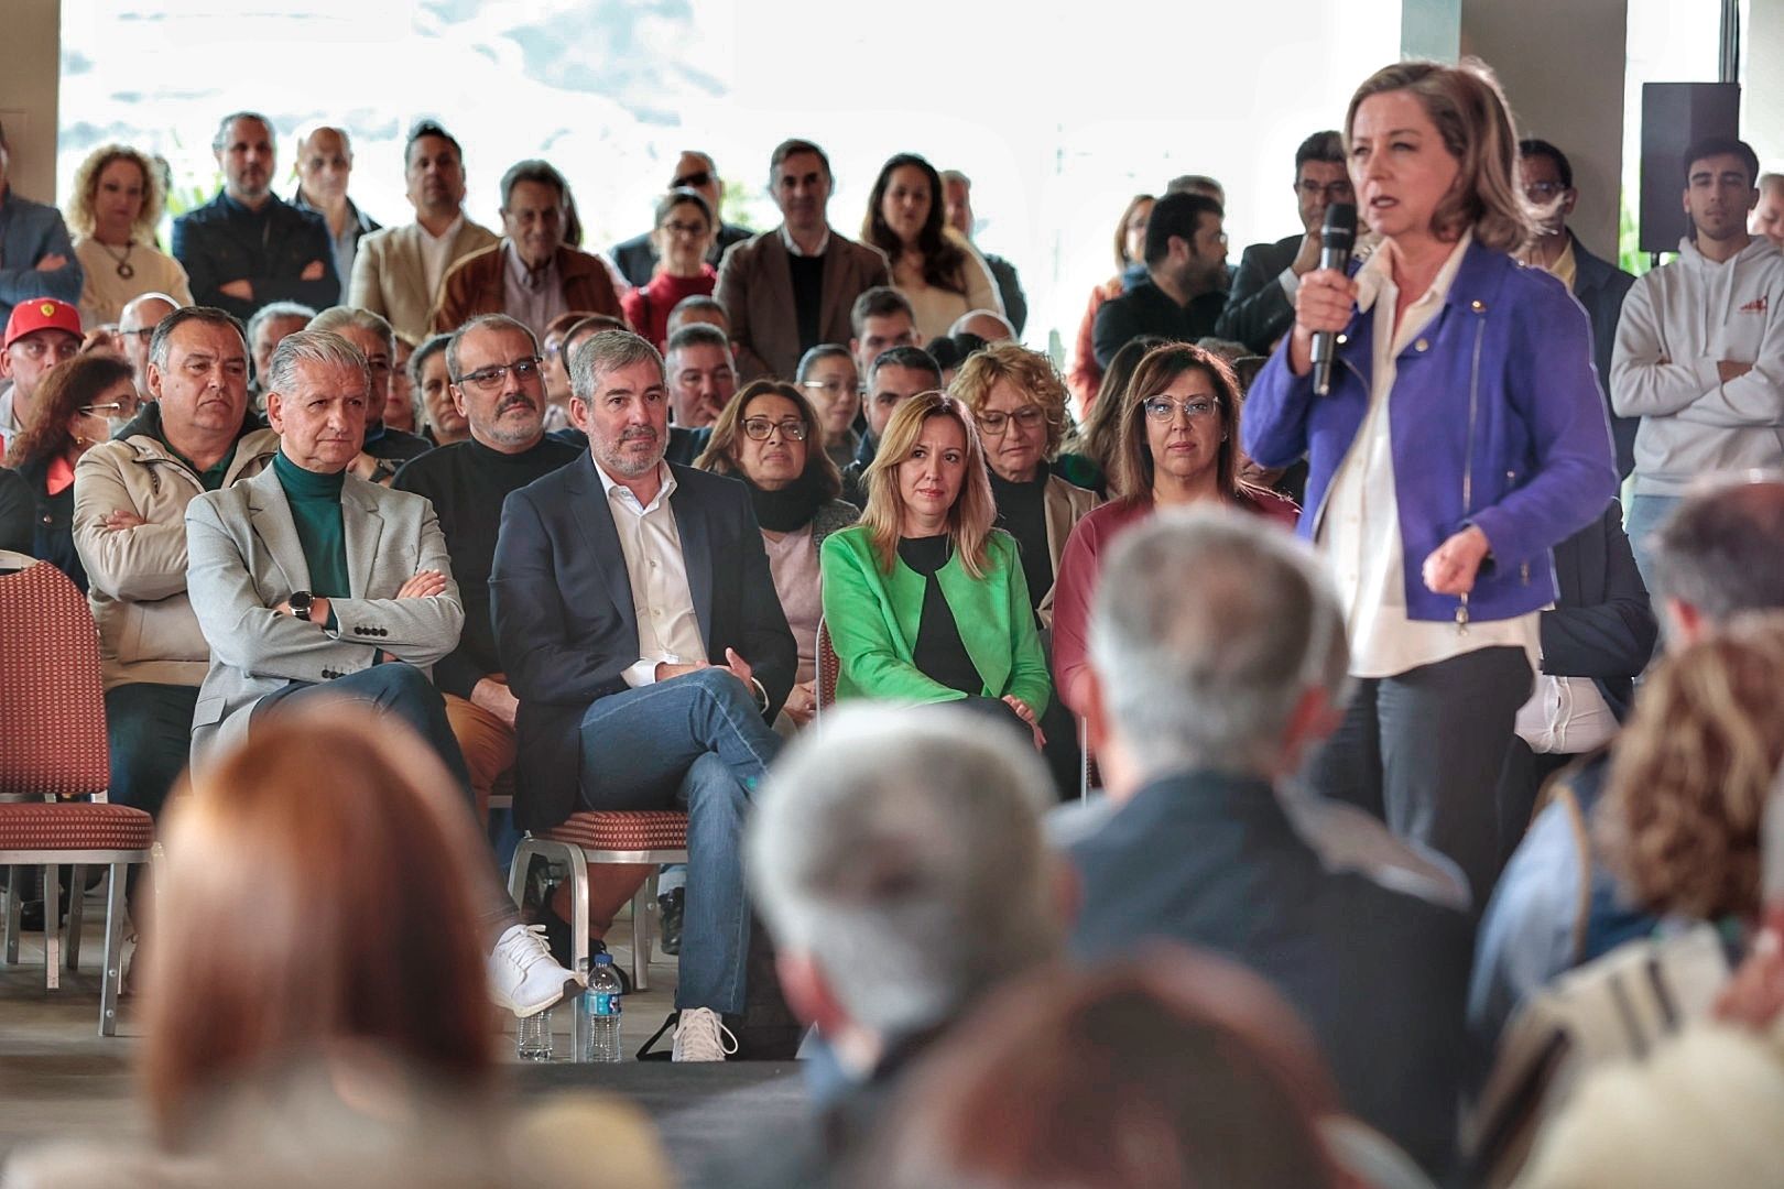
POLYGON ((1343 137, 1315 132, 1295 150, 1295 203, 1302 230, 1245 250, 1215 335, 1268 355, 1270 346, 1288 333, 1295 321, 1295 289, 1302 275, 1320 266, 1320 226, 1326 207, 1334 201, 1356 201, 1345 169, 1343 137))

